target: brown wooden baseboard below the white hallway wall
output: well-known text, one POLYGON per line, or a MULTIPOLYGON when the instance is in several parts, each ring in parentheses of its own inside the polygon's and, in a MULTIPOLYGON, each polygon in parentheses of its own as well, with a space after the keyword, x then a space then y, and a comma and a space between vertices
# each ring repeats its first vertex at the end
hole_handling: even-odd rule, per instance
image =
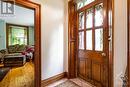
POLYGON ((51 77, 51 78, 42 80, 41 85, 42 85, 43 87, 45 87, 45 86, 47 86, 47 85, 49 85, 49 84, 51 84, 51 83, 54 83, 54 82, 56 82, 56 81, 58 81, 58 80, 60 80, 60 79, 62 79, 62 78, 66 78, 66 77, 67 77, 67 72, 64 72, 64 73, 58 74, 58 75, 56 75, 56 76, 53 76, 53 77, 51 77))

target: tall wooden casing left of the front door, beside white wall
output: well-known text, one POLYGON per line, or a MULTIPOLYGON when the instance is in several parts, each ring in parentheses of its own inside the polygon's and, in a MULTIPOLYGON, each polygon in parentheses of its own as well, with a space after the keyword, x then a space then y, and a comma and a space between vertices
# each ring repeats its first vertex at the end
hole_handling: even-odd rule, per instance
POLYGON ((73 0, 68 2, 68 78, 76 77, 76 4, 73 0))

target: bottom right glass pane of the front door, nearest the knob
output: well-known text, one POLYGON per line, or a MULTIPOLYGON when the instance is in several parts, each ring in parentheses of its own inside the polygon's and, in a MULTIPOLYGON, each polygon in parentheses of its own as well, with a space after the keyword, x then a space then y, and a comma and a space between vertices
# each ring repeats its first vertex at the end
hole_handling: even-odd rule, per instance
POLYGON ((103 29, 95 30, 95 50, 103 51, 103 29))

